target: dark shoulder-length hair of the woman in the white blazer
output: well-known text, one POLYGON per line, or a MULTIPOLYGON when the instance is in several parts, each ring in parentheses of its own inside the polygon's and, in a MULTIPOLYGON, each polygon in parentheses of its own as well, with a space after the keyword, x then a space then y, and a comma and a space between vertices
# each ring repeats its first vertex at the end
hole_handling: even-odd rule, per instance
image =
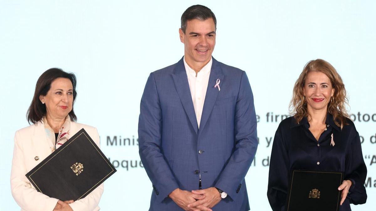
POLYGON ((45 96, 47 95, 47 92, 51 88, 52 81, 56 80, 56 78, 68 78, 73 85, 73 104, 72 104, 72 110, 69 112, 69 117, 71 121, 77 121, 77 116, 74 114, 73 111, 73 105, 74 101, 77 97, 76 92, 76 84, 77 79, 76 75, 73 73, 64 72, 62 69, 59 68, 51 68, 46 70, 41 76, 39 76, 38 81, 36 81, 35 85, 35 92, 33 96, 33 100, 31 101, 30 107, 27 110, 26 119, 27 121, 33 124, 35 124, 38 121, 41 121, 43 116, 46 115, 46 107, 45 104, 42 104, 42 102, 39 100, 39 96, 45 96))

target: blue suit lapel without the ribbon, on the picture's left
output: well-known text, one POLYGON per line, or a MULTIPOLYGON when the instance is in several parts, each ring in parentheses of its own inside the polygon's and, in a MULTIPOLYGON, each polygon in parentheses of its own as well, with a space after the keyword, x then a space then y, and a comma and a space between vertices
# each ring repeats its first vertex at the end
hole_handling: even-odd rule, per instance
POLYGON ((180 101, 182 102, 185 113, 187 114, 192 127, 197 134, 199 127, 197 124, 196 113, 194 112, 191 90, 188 84, 188 77, 185 71, 183 58, 177 62, 172 77, 174 79, 176 91, 179 95, 180 101))

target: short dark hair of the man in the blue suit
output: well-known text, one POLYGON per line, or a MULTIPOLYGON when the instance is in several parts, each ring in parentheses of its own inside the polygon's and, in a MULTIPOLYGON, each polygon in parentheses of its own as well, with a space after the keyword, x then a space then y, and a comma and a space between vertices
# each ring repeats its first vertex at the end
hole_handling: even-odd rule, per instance
POLYGON ((187 21, 193 20, 193 19, 199 19, 201 21, 205 21, 208 18, 213 18, 214 20, 214 26, 215 30, 217 30, 217 19, 215 19, 214 13, 207 8, 206 6, 202 5, 193 5, 190 6, 188 9, 186 9, 183 12, 182 18, 181 18, 181 29, 185 33, 185 29, 187 27, 187 21))

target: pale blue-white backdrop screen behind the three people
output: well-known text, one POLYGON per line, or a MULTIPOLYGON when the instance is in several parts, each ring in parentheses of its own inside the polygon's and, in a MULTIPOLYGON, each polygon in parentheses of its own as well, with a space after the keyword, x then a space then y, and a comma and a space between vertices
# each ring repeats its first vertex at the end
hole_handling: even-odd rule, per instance
MULTIPOLYGON (((98 128, 111 159, 139 160, 137 146, 106 146, 106 136, 137 137, 139 101, 147 76, 183 56, 178 29, 188 6, 203 4, 217 17, 213 56, 247 72, 260 115, 256 166, 246 176, 252 210, 270 210, 266 197, 270 155, 265 137, 287 114, 292 87, 306 62, 322 58, 342 76, 350 113, 376 113, 375 1, 0 1, 0 209, 19 210, 9 177, 14 132, 26 127, 26 110, 39 75, 51 67, 78 79, 78 122, 98 128)), ((375 122, 355 122, 373 155, 375 122)), ((368 176, 375 165, 366 159, 368 176)), ((147 210, 152 187, 142 168, 119 168, 105 182, 102 210, 147 210)), ((376 206, 376 188, 365 205, 376 206)), ((36 202, 37 203, 37 202, 36 202)))

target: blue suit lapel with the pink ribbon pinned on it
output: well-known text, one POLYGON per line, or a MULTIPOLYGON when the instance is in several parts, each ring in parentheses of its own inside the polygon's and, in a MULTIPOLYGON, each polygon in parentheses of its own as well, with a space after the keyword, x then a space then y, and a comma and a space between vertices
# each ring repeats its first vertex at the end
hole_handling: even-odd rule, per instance
POLYGON ((213 110, 215 101, 217 100, 217 96, 219 94, 218 87, 214 87, 217 79, 220 80, 219 86, 222 87, 223 84, 223 72, 221 67, 219 66, 219 62, 213 58, 212 68, 210 71, 209 82, 208 82, 208 89, 206 90, 204 107, 202 110, 201 122, 200 122, 200 130, 205 127, 206 122, 209 119, 209 116, 213 110))

